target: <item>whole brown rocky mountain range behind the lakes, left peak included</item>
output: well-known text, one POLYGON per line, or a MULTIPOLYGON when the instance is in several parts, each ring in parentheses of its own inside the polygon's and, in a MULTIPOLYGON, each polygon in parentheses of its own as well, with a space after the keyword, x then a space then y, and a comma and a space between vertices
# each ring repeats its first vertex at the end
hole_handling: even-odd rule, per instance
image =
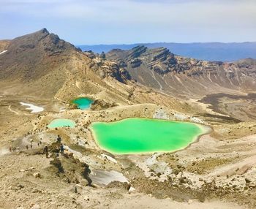
POLYGON ((104 94, 104 98, 114 96, 124 103, 131 98, 139 101, 140 96, 132 96, 134 88, 183 99, 256 91, 255 59, 201 61, 177 56, 166 47, 152 47, 140 45, 99 55, 82 52, 43 28, 0 40, 0 84, 10 88, 15 83, 15 93, 20 95, 68 100, 72 95, 104 94))

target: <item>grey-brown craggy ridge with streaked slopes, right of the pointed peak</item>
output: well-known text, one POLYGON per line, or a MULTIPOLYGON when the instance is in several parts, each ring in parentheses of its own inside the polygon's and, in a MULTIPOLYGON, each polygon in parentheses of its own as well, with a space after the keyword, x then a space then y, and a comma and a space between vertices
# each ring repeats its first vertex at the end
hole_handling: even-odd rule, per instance
POLYGON ((106 57, 127 69, 139 83, 177 96, 256 91, 253 59, 236 63, 176 56, 164 47, 111 50, 106 57))

